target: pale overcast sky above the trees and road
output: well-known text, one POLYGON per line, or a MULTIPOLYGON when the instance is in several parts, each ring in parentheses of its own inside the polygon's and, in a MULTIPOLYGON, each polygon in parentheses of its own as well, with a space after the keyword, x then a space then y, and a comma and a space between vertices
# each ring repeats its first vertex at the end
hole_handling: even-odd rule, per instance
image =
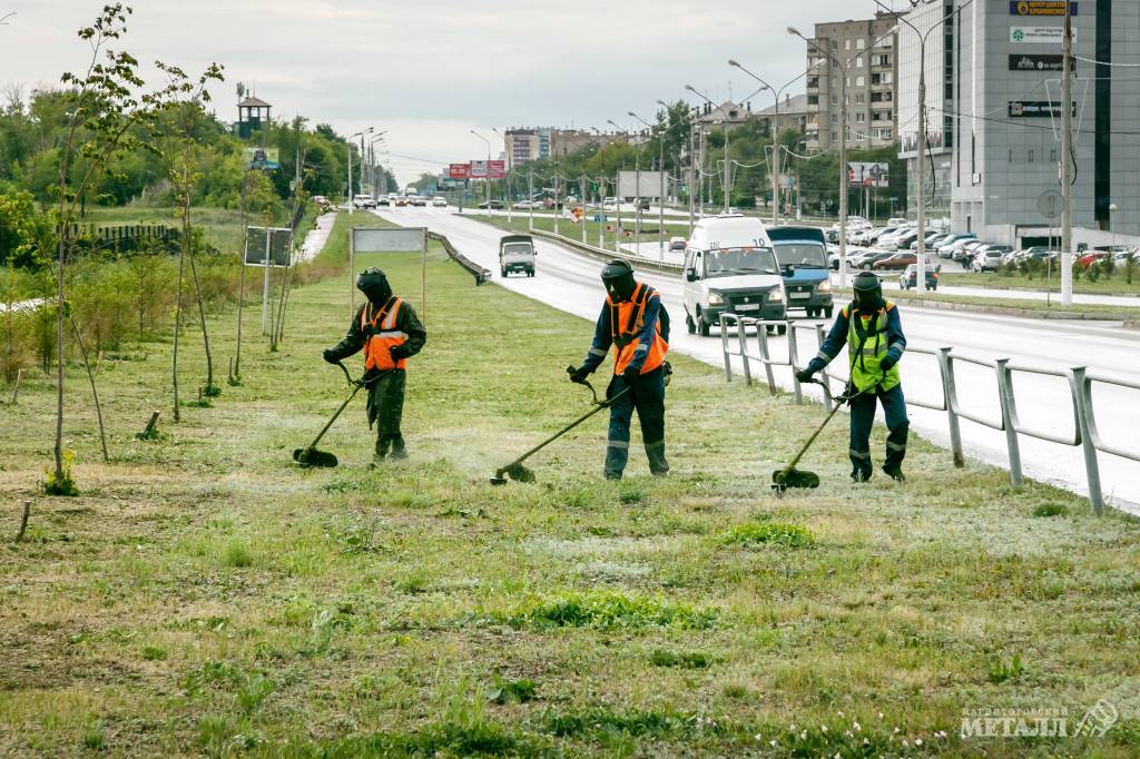
MULTIPOLYGON (((104 0, 0 0, 0 84, 54 84, 87 51, 75 30, 104 0)), ((129 3, 131 5, 131 3, 129 3)), ((625 128, 653 121, 660 98, 743 98, 756 83, 736 58, 780 87, 803 73, 817 22, 870 17, 873 0, 136 0, 123 48, 198 71, 226 66, 214 107, 236 119, 237 82, 275 117, 307 116, 343 133, 388 130, 401 181, 486 157, 469 130, 625 128)), ((888 2, 889 5, 889 2, 888 2)), ((905 5, 895 0, 896 7, 905 5)), ((803 92, 803 80, 789 89, 803 92)), ((694 100, 695 101, 695 100, 694 100)), ((754 108, 772 104, 765 92, 754 108)))

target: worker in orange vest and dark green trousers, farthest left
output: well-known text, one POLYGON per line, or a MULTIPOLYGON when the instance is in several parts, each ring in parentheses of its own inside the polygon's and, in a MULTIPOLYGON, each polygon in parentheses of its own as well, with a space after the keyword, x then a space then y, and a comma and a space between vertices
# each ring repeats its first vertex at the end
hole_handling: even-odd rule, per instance
POLYGON ((407 387, 408 358, 418 353, 427 341, 415 310, 392 294, 388 277, 376 268, 365 269, 357 277, 357 289, 367 301, 357 310, 349 332, 324 357, 336 364, 364 350, 365 372, 361 379, 368 387, 368 426, 376 425, 375 463, 391 451, 392 458, 407 458, 400 433, 404 416, 404 393, 407 387))

